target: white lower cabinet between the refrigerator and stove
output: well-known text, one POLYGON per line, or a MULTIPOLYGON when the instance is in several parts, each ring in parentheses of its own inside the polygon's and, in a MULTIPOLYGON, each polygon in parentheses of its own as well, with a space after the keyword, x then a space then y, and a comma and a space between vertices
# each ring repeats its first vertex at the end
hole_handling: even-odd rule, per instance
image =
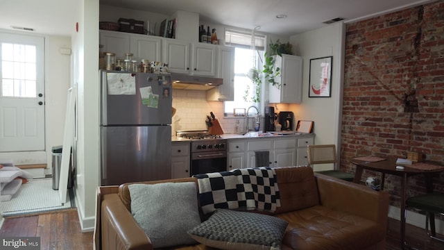
POLYGON ((189 143, 176 143, 171 145, 171 178, 189 177, 189 143))

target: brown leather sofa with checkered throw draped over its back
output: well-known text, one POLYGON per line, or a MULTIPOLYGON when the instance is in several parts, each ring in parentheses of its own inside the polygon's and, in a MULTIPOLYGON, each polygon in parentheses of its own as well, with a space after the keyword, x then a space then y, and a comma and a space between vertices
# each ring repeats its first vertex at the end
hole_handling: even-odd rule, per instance
MULTIPOLYGON (((384 249, 387 192, 316 174, 311 167, 275 171, 281 207, 272 215, 289 222, 282 249, 384 249)), ((192 177, 146 183, 189 181, 197 183, 192 177)), ((128 184, 98 188, 96 249, 153 249, 130 213, 128 184)), ((212 248, 196 244, 172 249, 212 248)))

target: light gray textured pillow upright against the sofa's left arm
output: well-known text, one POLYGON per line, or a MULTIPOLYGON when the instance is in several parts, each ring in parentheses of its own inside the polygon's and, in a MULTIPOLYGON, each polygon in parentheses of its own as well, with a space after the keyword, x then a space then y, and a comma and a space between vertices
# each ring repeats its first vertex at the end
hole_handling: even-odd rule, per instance
POLYGON ((196 243, 187 231, 200 224, 196 183, 131 184, 131 213, 153 247, 196 243))

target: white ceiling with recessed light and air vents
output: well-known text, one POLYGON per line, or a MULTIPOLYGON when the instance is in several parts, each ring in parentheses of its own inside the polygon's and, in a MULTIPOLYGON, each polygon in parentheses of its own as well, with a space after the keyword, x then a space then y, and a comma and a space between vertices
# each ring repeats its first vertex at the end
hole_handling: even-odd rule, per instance
MULTIPOLYGON (((84 0, 90 1, 90 0, 84 0)), ((213 24, 253 29, 276 35, 295 35, 327 24, 364 19, 436 0, 100 0, 101 4, 173 15, 176 10, 198 12, 213 24), (277 19, 278 14, 287 15, 277 19)), ((35 33, 71 35, 78 0, 1 0, 0 28, 34 28, 35 33)))

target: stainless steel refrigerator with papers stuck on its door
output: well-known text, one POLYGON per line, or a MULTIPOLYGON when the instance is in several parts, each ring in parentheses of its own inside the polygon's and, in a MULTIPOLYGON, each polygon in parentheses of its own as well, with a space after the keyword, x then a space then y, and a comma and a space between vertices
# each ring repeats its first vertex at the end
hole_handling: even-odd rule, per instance
POLYGON ((100 74, 101 185, 171 178, 171 76, 100 74))

